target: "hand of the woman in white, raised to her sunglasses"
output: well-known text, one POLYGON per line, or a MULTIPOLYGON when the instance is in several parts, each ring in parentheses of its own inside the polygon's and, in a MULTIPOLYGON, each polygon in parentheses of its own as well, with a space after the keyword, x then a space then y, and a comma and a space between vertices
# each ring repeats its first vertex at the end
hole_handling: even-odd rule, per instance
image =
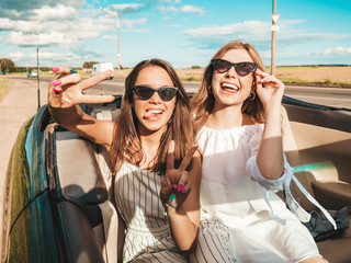
POLYGON ((264 107, 281 104, 285 85, 276 77, 258 69, 254 72, 257 82, 257 94, 264 107))

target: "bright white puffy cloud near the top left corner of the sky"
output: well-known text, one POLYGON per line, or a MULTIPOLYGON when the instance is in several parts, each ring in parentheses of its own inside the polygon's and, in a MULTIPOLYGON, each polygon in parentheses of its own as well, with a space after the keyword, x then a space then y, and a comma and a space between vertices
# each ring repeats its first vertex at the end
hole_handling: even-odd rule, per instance
POLYGON ((72 20, 79 16, 78 11, 72 7, 57 4, 56 7, 44 5, 41 9, 33 10, 35 15, 30 20, 72 20))

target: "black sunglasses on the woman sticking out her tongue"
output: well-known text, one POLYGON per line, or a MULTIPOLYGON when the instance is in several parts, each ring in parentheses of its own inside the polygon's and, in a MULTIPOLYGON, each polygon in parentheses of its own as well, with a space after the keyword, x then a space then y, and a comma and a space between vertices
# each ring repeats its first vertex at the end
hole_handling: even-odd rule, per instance
POLYGON ((149 100, 155 92, 159 94, 162 101, 170 101, 177 95, 178 92, 177 87, 162 87, 159 89, 152 89, 151 87, 147 85, 134 85, 133 90, 135 91, 135 94, 144 101, 149 100))

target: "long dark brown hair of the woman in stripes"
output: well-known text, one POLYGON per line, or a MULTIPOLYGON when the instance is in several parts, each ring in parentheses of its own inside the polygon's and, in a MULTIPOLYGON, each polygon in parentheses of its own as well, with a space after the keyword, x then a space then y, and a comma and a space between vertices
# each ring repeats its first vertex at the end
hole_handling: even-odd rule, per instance
POLYGON ((110 148, 110 160, 114 167, 115 174, 124 161, 139 165, 144 158, 139 135, 137 133, 138 119, 133 105, 133 85, 141 69, 150 66, 163 68, 171 78, 173 85, 179 89, 173 114, 162 134, 160 145, 155 158, 154 171, 165 174, 168 146, 174 139, 174 160, 178 167, 184 158, 186 150, 194 144, 195 133, 191 118, 190 100, 174 69, 162 59, 143 60, 139 62, 125 80, 125 92, 118 117, 115 121, 116 128, 113 142, 110 148))

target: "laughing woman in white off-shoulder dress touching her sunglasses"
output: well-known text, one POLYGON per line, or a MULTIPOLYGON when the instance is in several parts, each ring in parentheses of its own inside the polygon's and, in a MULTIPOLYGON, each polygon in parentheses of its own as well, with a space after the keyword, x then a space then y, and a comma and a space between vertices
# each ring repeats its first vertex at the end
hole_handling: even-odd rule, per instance
POLYGON ((324 262, 274 193, 293 178, 282 147, 283 92, 253 46, 240 41, 219 48, 206 67, 192 99, 204 210, 194 262, 324 262))

